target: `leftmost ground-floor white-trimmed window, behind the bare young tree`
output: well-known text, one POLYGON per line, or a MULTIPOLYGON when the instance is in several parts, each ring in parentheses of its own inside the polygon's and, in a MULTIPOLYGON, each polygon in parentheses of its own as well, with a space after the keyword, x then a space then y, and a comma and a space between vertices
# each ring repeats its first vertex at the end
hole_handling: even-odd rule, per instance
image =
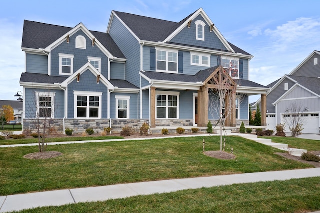
POLYGON ((54 92, 35 92, 37 118, 54 118, 54 92))

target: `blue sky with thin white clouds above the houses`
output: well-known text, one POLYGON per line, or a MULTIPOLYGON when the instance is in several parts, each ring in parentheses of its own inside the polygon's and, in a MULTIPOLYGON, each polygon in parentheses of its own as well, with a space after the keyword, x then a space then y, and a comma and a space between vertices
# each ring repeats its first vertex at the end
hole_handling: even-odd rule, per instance
POLYGON ((320 50, 319 0, 10 0, 0 3, 0 100, 22 90, 24 19, 105 32, 112 10, 179 22, 200 7, 227 41, 254 56, 249 80, 262 85, 320 50))

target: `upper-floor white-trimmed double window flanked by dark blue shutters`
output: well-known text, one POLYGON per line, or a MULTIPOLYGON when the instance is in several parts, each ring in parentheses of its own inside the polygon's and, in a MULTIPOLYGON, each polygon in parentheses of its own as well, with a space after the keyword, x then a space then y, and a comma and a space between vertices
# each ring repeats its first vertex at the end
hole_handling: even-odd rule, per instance
POLYGON ((164 72, 177 72, 178 52, 157 49, 156 50, 156 70, 164 72))

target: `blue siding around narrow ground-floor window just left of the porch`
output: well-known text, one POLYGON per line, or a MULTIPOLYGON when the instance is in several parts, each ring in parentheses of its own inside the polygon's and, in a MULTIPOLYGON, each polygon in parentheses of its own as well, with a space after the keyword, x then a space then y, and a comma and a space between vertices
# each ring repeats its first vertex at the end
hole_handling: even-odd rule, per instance
POLYGON ((116 103, 115 96, 130 96, 130 118, 129 119, 137 119, 138 118, 138 94, 137 93, 116 93, 111 92, 110 94, 110 115, 112 119, 115 119, 116 113, 116 103))

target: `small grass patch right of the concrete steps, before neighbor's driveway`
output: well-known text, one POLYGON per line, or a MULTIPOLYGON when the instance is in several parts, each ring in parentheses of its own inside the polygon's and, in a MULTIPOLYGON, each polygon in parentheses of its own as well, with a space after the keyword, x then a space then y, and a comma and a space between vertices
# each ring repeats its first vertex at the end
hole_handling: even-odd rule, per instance
MULTIPOLYGON (((262 137, 261 137, 262 138, 262 137)), ((291 148, 306 149, 307 151, 320 150, 320 141, 294 137, 266 136, 275 143, 285 143, 291 148)))

